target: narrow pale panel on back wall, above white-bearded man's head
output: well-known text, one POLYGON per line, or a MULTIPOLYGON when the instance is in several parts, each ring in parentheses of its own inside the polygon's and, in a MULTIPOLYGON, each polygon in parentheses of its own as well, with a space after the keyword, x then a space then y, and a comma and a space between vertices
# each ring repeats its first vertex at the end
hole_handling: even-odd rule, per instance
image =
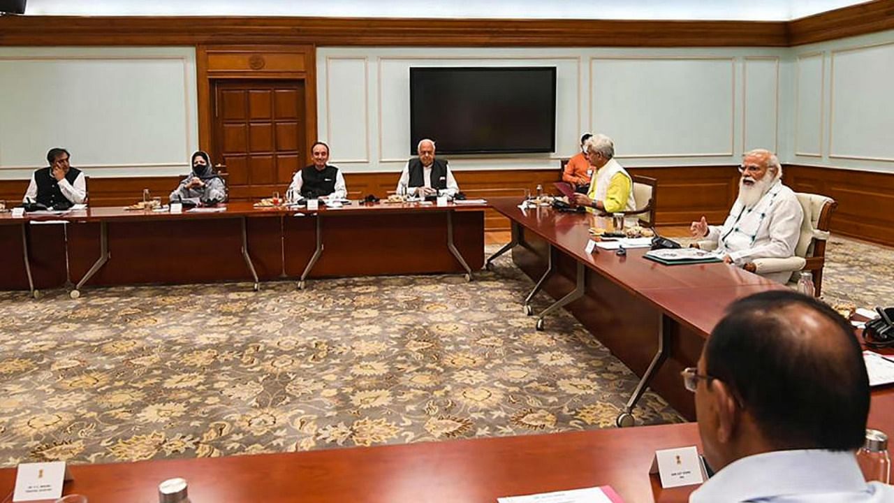
POLYGON ((778 152, 780 60, 746 58, 744 73, 743 150, 778 152))

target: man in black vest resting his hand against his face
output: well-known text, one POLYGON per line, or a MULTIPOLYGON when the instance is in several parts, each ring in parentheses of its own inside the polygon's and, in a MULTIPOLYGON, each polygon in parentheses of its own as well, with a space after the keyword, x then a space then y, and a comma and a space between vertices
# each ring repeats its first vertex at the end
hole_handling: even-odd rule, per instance
POLYGON ((38 202, 46 208, 69 209, 72 204, 87 200, 87 182, 80 169, 69 166, 71 155, 66 149, 50 149, 46 152, 49 166, 31 175, 31 183, 25 192, 24 202, 38 202))

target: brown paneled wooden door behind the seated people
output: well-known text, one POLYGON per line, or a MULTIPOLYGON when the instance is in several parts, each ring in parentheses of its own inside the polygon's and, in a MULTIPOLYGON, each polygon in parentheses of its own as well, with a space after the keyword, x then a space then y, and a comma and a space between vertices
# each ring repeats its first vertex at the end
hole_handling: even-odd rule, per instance
POLYGON ((285 192, 307 161, 304 81, 215 81, 214 158, 231 200, 285 192))

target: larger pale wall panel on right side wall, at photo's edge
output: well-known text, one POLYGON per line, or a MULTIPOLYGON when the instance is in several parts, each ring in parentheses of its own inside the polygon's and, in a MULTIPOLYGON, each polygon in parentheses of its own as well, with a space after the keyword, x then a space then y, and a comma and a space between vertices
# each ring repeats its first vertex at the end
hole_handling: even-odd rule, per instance
POLYGON ((829 157, 894 161, 894 44, 831 53, 829 157))

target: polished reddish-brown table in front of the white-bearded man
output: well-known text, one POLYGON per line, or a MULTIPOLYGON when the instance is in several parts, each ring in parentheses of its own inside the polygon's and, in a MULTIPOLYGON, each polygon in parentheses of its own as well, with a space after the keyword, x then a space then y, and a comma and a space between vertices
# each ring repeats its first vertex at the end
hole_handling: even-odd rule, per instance
POLYGON ((587 253, 588 229, 604 227, 604 218, 549 207, 519 209, 520 201, 488 200, 510 219, 512 241, 487 262, 511 251, 516 265, 536 280, 525 301, 528 314, 536 311, 533 303, 541 290, 559 299, 532 324, 545 328, 548 315, 564 307, 641 376, 619 425, 631 424, 647 387, 695 419, 692 395, 679 372, 696 365, 705 337, 731 302, 785 286, 723 263, 665 266, 646 260, 645 249, 630 249, 624 256, 598 248, 587 253))

